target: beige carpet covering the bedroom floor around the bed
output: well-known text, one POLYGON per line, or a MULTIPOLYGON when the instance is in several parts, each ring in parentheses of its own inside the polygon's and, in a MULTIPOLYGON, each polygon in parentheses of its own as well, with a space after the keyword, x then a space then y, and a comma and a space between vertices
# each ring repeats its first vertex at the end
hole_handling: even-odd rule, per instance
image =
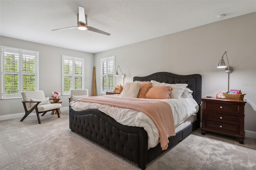
MULTIPOLYGON (((69 129, 68 111, 0 121, 1 170, 139 170, 137 164, 69 129)), ((198 129, 146 166, 147 170, 255 170, 256 139, 198 129)))

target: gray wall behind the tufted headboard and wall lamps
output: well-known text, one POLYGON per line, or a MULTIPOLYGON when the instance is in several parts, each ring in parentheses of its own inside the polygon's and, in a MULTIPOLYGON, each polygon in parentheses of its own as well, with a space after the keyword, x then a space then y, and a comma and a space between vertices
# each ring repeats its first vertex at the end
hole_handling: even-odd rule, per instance
MULTIPOLYGON (((101 95, 100 58, 115 55, 116 67, 120 65, 126 75, 124 83, 159 71, 198 73, 202 75, 202 97, 215 96, 228 90, 228 74, 217 68, 225 51, 234 69, 230 89, 246 93, 245 130, 256 132, 256 13, 96 53, 97 92, 101 95)), ((120 76, 116 77, 118 84, 123 85, 120 76)))

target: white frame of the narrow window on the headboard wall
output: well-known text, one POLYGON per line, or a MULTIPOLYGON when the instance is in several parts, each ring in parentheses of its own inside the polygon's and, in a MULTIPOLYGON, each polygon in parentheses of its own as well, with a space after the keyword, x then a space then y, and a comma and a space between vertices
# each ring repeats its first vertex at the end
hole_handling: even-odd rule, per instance
MULTIPOLYGON (((115 71, 116 71, 116 56, 115 55, 111 56, 111 57, 105 57, 105 58, 100 59, 100 94, 106 94, 106 92, 109 92, 107 90, 106 91, 102 90, 102 77, 105 77, 102 75, 102 62, 107 61, 107 63, 108 63, 108 61, 112 61, 112 60, 113 60, 113 76, 110 76, 110 77, 113 77, 113 90, 112 91, 114 91, 114 86, 115 86, 115 81, 116 81, 115 75, 114 75, 115 71)), ((107 64, 106 69, 108 70, 108 64, 107 64)), ((106 74, 106 77, 107 77, 106 89, 108 89, 108 77, 109 77, 108 73, 106 74)))

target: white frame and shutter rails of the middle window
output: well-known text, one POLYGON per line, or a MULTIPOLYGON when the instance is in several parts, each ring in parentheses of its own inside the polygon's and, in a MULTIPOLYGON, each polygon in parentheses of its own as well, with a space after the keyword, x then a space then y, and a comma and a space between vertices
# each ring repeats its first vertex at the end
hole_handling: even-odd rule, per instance
MULTIPOLYGON (((68 92, 65 92, 64 89, 64 76, 68 76, 68 75, 72 75, 72 88, 71 89, 75 89, 75 77, 82 77, 81 78, 81 82, 82 82, 82 85, 81 85, 81 88, 78 88, 78 89, 84 89, 84 58, 80 58, 80 57, 72 57, 72 56, 68 56, 68 55, 61 55, 61 82, 62 82, 62 85, 61 85, 61 91, 62 91, 62 95, 70 95, 70 91, 68 92), (72 74, 64 74, 64 60, 69 60, 69 61, 72 61, 72 74), (75 61, 78 61, 78 62, 82 62, 82 74, 81 75, 75 75, 75 67, 74 67, 74 64, 75 64, 75 61)), ((71 90, 70 89, 70 90, 71 90)))

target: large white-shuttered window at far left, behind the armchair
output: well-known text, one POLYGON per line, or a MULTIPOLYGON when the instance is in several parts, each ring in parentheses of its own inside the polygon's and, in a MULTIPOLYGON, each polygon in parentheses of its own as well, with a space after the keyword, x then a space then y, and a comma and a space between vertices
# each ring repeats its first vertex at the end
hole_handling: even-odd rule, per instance
POLYGON ((1 99, 38 90, 38 51, 1 46, 1 99))

